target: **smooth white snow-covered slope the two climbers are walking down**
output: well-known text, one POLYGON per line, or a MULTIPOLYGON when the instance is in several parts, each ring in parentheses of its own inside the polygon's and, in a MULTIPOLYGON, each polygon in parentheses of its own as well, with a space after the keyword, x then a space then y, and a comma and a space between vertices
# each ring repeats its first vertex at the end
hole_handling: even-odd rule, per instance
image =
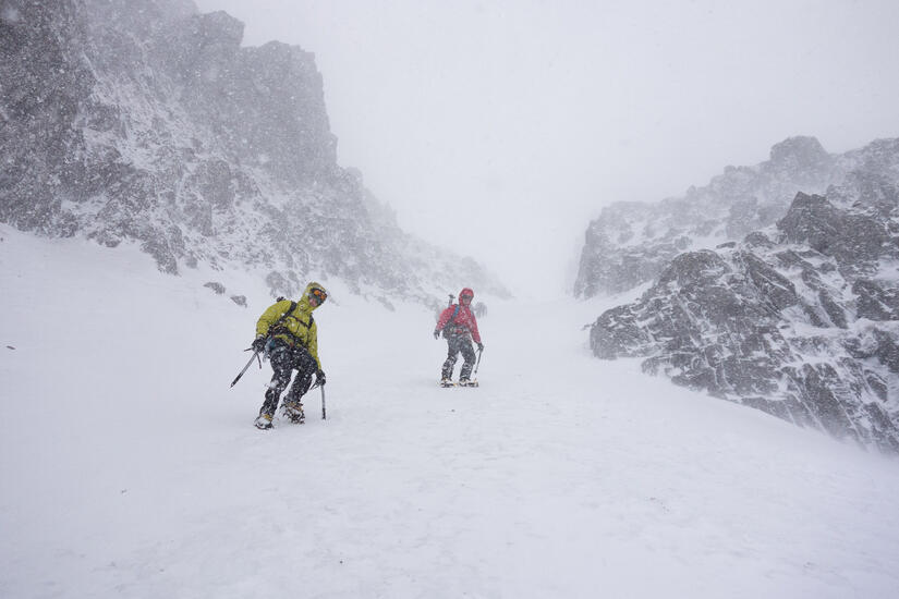
POLYGON ((440 389, 434 315, 332 282, 328 419, 264 432, 257 278, 0 237, 0 597, 899 596, 899 462, 592 358, 598 304, 487 298, 440 389))

